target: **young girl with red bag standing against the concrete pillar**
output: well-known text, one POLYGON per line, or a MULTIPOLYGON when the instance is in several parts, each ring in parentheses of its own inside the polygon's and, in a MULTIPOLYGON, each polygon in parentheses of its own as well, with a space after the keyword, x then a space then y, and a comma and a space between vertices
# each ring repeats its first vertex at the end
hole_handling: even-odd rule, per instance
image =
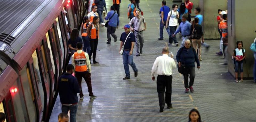
POLYGON ((237 41, 237 48, 234 50, 234 63, 235 63, 235 82, 243 82, 243 60, 245 60, 245 49, 243 47, 243 41, 237 41), (240 67, 241 80, 238 81, 238 68, 240 67))

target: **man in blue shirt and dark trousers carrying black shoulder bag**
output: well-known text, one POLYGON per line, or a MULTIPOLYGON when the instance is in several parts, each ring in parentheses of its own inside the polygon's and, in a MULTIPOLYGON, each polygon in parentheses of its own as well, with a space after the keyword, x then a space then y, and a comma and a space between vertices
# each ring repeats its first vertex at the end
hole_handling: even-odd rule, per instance
POLYGON ((110 34, 114 38, 114 40, 115 40, 114 42, 117 42, 117 35, 115 35, 115 30, 116 30, 117 26, 119 25, 119 17, 117 15, 117 13, 115 13, 114 10, 115 10, 115 7, 111 6, 110 12, 107 13, 107 16, 105 18, 105 20, 109 20, 108 25, 107 25, 107 44, 110 44, 110 42, 111 42, 110 34))

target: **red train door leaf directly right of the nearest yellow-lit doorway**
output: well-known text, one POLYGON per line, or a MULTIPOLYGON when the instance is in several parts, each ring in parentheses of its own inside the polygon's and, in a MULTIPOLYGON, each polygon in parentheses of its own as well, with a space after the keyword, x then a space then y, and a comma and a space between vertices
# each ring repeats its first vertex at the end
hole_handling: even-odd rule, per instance
MULTIPOLYGON (((46 59, 46 53, 45 53, 45 47, 44 45, 41 45, 38 47, 38 59, 39 59, 39 64, 40 64, 40 68, 41 68, 41 79, 42 81, 44 82, 43 84, 45 85, 45 90, 46 90, 46 94, 47 94, 47 100, 46 100, 46 103, 45 103, 45 107, 46 107, 46 111, 44 111, 44 114, 45 114, 45 118, 43 119, 46 119, 48 117, 47 113, 49 112, 49 104, 51 103, 51 99, 52 96, 51 96, 51 79, 50 79, 50 73, 51 71, 49 70, 48 68, 48 64, 49 62, 47 62, 47 59, 46 59)), ((50 63, 51 64, 51 63, 50 63)))

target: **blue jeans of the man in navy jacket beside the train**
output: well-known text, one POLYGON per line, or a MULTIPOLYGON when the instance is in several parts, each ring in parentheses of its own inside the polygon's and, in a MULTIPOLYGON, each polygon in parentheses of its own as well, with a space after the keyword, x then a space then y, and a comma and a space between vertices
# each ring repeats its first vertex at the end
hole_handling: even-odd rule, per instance
POLYGON ((77 116, 77 104, 74 104, 74 105, 71 105, 71 106, 62 105, 61 111, 65 114, 67 114, 69 112, 70 122, 75 122, 76 121, 75 116, 77 116))

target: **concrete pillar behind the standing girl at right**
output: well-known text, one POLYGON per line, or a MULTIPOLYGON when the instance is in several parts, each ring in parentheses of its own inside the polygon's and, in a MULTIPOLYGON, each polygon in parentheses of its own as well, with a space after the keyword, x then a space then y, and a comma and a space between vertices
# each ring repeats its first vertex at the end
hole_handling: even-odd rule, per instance
POLYGON ((244 77, 253 77, 253 52, 250 45, 256 36, 255 0, 228 0, 228 71, 234 75, 234 63, 231 60, 236 41, 243 41, 246 51, 246 63, 243 65, 244 77))

